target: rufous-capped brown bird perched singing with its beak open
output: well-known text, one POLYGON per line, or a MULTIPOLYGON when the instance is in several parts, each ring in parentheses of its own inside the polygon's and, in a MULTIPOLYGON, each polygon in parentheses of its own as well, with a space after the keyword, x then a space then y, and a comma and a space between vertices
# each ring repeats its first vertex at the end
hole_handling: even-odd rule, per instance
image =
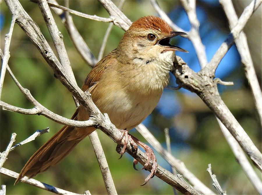
MULTIPOLYGON (((120 149, 120 144, 117 145, 118 153, 123 155, 128 140, 135 149, 137 144, 145 149, 148 158, 145 167, 150 160, 153 164, 145 183, 156 172, 156 158, 153 150, 130 136, 128 130, 140 124, 156 107, 164 87, 169 83, 175 51, 187 52, 170 44, 170 39, 177 35, 187 34, 172 31, 167 22, 159 17, 139 18, 124 33, 117 48, 95 65, 82 86, 84 92, 91 93, 99 110, 107 113, 111 122, 121 131, 118 141, 125 137, 123 149, 120 149)), ((80 104, 71 119, 85 121, 88 118, 88 112, 80 104)), ((61 162, 94 130, 95 127, 63 126, 26 162, 15 184, 24 176, 32 178, 61 162)), ((134 164, 137 164, 136 160, 134 164)))

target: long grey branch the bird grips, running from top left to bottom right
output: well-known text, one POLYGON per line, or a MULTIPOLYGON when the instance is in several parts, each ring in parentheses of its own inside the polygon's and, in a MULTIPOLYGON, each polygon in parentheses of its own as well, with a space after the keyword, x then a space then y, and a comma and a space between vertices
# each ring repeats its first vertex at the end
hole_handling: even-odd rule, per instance
MULTIPOLYGON (((112 6, 110 5, 109 1, 104 2, 107 3, 107 6, 112 6)), ((74 85, 74 82, 72 82, 70 78, 66 77, 65 70, 63 69, 57 58, 54 56, 53 51, 51 50, 44 36, 40 32, 38 26, 24 11, 21 4, 17 0, 6 0, 6 3, 11 13, 13 13, 14 11, 13 7, 17 6, 17 9, 19 9, 17 23, 26 32, 26 34, 29 35, 30 39, 36 45, 44 59, 53 68, 56 78, 58 78, 68 88, 68 90, 79 100, 79 102, 85 108, 87 108, 88 114, 91 116, 91 118, 93 120, 98 121, 98 128, 101 129, 104 133, 106 133, 109 137, 111 137, 111 139, 116 141, 121 134, 120 131, 111 123, 111 121, 107 117, 102 115, 102 113, 93 103, 91 95, 84 93, 77 85, 74 85)), ((128 145, 127 152, 130 155, 132 155, 136 160, 138 160, 138 162, 140 162, 142 165, 145 164, 146 156, 140 150, 138 150, 137 154, 133 154, 131 146, 128 145)), ((165 170, 161 166, 158 166, 155 175, 157 177, 160 177, 166 183, 172 185, 184 194, 201 194, 196 189, 192 188, 189 184, 187 184, 181 177, 174 176, 172 173, 165 170)))

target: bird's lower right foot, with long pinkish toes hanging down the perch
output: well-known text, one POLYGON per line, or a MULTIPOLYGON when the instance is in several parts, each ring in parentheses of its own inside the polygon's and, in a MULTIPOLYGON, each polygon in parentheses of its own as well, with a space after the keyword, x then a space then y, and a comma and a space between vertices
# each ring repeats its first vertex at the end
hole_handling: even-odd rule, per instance
MULTIPOLYGON (((144 165, 144 167, 142 169, 150 169, 151 166, 150 166, 150 161, 152 160, 152 169, 151 169, 151 172, 150 174, 147 176, 147 178, 145 179, 145 182, 141 185, 146 185, 146 183, 155 176, 155 173, 156 173, 156 170, 157 170, 157 162, 156 162, 156 157, 155 157, 155 154, 154 154, 154 151, 146 144, 143 144, 144 148, 145 148, 145 151, 146 151, 146 163, 144 165)), ((138 161, 136 159, 134 159, 133 161, 133 167, 135 170, 136 169, 136 164, 138 163, 138 161)))

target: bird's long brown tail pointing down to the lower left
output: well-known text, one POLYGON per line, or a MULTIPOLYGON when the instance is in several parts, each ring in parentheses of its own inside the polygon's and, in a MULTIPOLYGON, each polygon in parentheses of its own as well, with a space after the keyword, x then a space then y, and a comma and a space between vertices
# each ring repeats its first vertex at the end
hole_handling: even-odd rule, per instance
MULTIPOLYGON (((72 119, 76 117, 77 114, 75 113, 72 119)), ((26 162, 19 177, 15 180, 15 184, 24 176, 34 177, 61 162, 82 139, 94 130, 94 127, 75 128, 63 126, 26 162)))

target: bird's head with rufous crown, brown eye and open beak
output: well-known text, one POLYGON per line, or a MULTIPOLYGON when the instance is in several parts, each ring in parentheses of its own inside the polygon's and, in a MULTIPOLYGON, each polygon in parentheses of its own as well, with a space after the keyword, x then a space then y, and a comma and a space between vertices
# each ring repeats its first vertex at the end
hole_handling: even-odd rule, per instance
POLYGON ((174 51, 187 52, 169 43, 170 39, 177 35, 187 34, 172 31, 161 18, 141 17, 125 32, 117 51, 125 60, 136 58, 150 60, 159 56, 174 56, 174 51))

